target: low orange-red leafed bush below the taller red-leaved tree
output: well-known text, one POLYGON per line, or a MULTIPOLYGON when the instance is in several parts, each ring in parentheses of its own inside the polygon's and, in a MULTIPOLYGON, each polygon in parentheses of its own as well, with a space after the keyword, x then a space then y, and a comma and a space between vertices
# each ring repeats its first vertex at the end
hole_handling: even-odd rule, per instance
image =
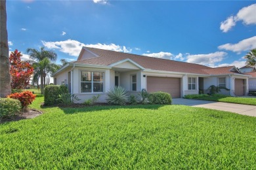
POLYGON ((22 109, 27 110, 28 105, 32 104, 32 101, 35 100, 35 96, 30 91, 25 91, 21 93, 12 93, 11 95, 8 95, 7 97, 12 99, 18 99, 20 103, 22 104, 22 109))

